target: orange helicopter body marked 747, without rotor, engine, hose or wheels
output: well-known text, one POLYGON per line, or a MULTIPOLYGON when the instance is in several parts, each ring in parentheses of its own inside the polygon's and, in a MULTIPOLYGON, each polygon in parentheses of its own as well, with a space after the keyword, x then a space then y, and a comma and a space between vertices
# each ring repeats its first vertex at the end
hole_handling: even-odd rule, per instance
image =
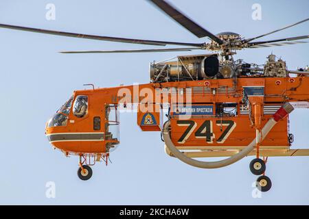
MULTIPOLYGON (((179 149, 242 149, 255 137, 253 127, 263 127, 282 103, 309 100, 309 77, 240 77, 236 82, 207 79, 78 90, 65 121, 47 124, 46 134, 66 155, 109 153, 119 144, 114 129, 119 127, 119 111, 136 105, 141 130, 161 131, 165 107, 171 138, 179 149), (88 99, 82 118, 72 110, 78 96, 88 99), (255 110, 260 110, 259 118, 255 110)), ((288 118, 284 118, 261 149, 288 149, 288 134, 288 118)))

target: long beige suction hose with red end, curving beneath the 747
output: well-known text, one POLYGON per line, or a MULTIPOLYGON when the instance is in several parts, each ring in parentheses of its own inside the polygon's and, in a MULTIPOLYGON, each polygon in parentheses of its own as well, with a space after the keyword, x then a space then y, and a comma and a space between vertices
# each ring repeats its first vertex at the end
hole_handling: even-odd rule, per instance
MULTIPOLYGON (((290 112, 292 112, 293 110, 294 108, 292 105, 290 105, 290 103, 288 102, 284 103, 284 105, 279 110, 277 110, 275 114, 273 114, 273 117, 269 119, 266 125, 264 125, 264 127, 262 128, 262 140, 264 140, 264 138, 267 136, 269 131, 273 129, 273 127, 277 124, 279 120, 284 118, 286 115, 290 114, 290 112)), ((240 151, 239 153, 236 153, 235 155, 229 158, 222 159, 217 162, 202 162, 196 159, 192 159, 191 157, 187 157, 186 155, 181 153, 181 151, 176 149, 176 146, 174 146, 170 138, 170 120, 166 121, 165 124, 163 125, 163 139, 164 139, 165 145, 168 147, 168 149, 170 149, 170 152, 175 157, 177 157, 182 162, 184 162, 185 164, 189 164, 191 166, 195 166, 198 168, 206 168, 206 169, 221 168, 224 166, 229 166, 235 162, 238 162, 240 159, 242 159, 243 157, 246 157, 249 153, 251 153, 251 151, 253 151, 256 145, 257 138, 260 139, 260 137, 261 137, 260 134, 258 134, 255 137, 255 139, 246 148, 244 148, 242 151, 240 151)))

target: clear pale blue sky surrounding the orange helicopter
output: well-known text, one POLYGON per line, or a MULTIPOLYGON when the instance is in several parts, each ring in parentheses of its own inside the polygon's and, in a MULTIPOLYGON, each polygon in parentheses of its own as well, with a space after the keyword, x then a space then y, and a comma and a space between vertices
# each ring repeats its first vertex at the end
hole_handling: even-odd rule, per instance
MULTIPOLYGON (((234 31, 250 38, 308 18, 309 1, 171 0, 194 21, 216 34, 234 31), (262 19, 253 20, 259 3, 262 19)), ((1 0, 0 23, 60 31, 179 42, 208 42, 144 0, 60 1, 1 0), (54 4, 55 20, 46 19, 54 4)), ((280 31, 265 40, 308 35, 309 23, 280 31)), ((271 157, 266 175, 273 188, 253 197, 256 176, 246 157, 220 169, 183 164, 164 153, 159 132, 142 132, 135 113, 120 115, 118 149, 113 164, 96 164, 93 177, 77 177, 78 157, 54 151, 45 123, 82 84, 113 87, 148 83, 153 60, 205 51, 144 54, 60 54, 62 50, 147 49, 151 46, 48 36, 0 29, 2 205, 308 205, 309 158, 271 157), (46 195, 50 182, 55 196, 46 195)), ((264 64, 274 53, 291 70, 306 66, 308 44, 239 51, 237 59, 264 64)), ((308 110, 290 115, 292 149, 308 148, 308 110)), ((214 159, 209 159, 214 160, 214 159)))

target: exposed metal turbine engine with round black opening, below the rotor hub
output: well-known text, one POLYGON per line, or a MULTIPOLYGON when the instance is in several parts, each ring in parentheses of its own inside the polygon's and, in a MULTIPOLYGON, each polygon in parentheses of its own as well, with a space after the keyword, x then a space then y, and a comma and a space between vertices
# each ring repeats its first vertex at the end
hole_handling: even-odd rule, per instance
POLYGON ((178 56, 174 62, 150 63, 150 81, 193 81, 225 79, 251 73, 242 60, 220 60, 218 54, 178 56))

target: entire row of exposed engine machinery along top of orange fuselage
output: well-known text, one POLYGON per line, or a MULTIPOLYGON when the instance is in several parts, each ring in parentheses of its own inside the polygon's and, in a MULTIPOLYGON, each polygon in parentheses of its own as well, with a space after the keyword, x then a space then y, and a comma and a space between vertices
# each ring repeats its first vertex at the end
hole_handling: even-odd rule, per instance
MULTIPOLYGON (((173 62, 153 62, 150 64, 150 81, 195 81, 203 79, 226 79, 236 77, 288 77, 295 71, 286 69, 286 62, 271 54, 264 68, 242 60, 219 60, 218 54, 178 56, 173 62)), ((309 68, 299 69, 299 73, 309 68)))

